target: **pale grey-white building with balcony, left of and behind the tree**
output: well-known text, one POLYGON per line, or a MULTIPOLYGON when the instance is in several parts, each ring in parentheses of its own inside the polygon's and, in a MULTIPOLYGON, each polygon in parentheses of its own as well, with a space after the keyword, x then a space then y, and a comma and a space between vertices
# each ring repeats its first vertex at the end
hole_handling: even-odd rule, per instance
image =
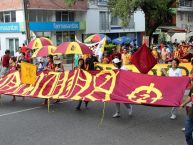
POLYGON ((142 34, 145 32, 145 15, 141 10, 136 11, 126 28, 121 26, 121 20, 113 17, 107 7, 108 0, 89 0, 86 15, 86 31, 84 37, 103 33, 111 39, 120 36, 137 38, 141 42, 142 34))

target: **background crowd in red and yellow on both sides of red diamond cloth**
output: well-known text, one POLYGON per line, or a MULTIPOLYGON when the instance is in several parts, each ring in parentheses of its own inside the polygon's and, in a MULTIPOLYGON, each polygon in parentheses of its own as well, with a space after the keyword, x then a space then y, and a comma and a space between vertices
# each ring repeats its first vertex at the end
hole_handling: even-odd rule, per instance
MULTIPOLYGON (((131 45, 124 45, 122 47, 114 47, 112 52, 104 52, 101 63, 109 64, 117 57, 123 65, 132 64, 131 59, 134 52, 138 49, 131 45)), ((157 60, 157 63, 171 63, 173 59, 178 59, 180 62, 190 62, 193 53, 193 43, 161 43, 160 45, 152 45, 150 47, 152 55, 157 60)))

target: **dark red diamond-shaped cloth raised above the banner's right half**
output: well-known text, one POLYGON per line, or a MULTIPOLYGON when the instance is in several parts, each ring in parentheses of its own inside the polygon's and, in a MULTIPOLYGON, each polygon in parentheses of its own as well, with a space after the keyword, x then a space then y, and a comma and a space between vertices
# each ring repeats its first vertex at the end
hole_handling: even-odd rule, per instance
POLYGON ((146 45, 142 45, 131 58, 131 62, 137 67, 141 73, 148 73, 156 64, 157 61, 146 45))

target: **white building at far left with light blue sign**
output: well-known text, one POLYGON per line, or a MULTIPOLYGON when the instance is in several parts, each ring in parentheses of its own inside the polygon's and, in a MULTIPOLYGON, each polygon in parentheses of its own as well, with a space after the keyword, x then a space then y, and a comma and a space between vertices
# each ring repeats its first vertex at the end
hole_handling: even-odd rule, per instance
POLYGON ((0 3, 0 56, 6 49, 13 55, 26 40, 24 11, 21 0, 2 0, 0 3))

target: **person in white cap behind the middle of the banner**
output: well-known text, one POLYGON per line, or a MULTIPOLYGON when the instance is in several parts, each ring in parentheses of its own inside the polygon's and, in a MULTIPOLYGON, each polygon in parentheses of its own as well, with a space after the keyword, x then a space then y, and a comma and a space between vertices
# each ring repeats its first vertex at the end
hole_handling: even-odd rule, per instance
MULTIPOLYGON (((122 63, 121 61, 118 59, 118 58, 114 58, 112 60, 114 66, 115 66, 115 69, 122 69, 122 70, 127 70, 127 68, 125 68, 124 66, 122 66, 122 63)), ((113 118, 118 118, 120 117, 120 103, 116 103, 116 112, 115 114, 112 116, 113 118)), ((133 111, 133 107, 131 106, 131 104, 128 104, 128 103, 124 103, 125 107, 127 108, 128 110, 128 115, 131 116, 132 115, 132 111, 133 111)))

